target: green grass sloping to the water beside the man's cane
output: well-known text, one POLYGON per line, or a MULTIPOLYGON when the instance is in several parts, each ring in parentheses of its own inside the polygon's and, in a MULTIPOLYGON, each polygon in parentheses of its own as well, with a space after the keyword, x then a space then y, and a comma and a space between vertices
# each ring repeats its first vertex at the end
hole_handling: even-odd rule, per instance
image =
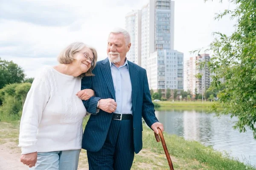
MULTIPOLYGON (((212 147, 206 147, 199 142, 186 141, 183 138, 166 133, 164 133, 164 136, 169 153, 177 160, 198 162, 193 166, 189 164, 189 169, 195 167, 202 170, 256 170, 255 167, 247 166, 228 155, 224 156, 222 153, 213 150, 212 147)), ((152 153, 164 154, 162 145, 155 142, 151 130, 147 127, 144 127, 143 144, 143 147, 148 148, 152 153)), ((177 167, 178 165, 175 164, 177 168, 182 167, 182 165, 184 164, 177 167)))

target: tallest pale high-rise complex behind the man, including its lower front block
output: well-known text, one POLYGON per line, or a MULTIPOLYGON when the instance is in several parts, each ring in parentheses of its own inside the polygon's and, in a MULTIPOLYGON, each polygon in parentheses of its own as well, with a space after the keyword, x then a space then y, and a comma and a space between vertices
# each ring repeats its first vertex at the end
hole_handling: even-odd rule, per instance
MULTIPOLYGON (((149 88, 161 89, 163 94, 167 88, 183 89, 183 53, 174 50, 174 1, 149 0, 140 12, 140 27, 134 17, 138 11, 126 15, 125 27, 132 34, 132 43, 133 39, 141 40, 140 66, 147 70, 149 88), (141 30, 140 37, 133 37, 137 30, 141 30)), ((128 54, 128 59, 139 56, 133 53, 128 54)))

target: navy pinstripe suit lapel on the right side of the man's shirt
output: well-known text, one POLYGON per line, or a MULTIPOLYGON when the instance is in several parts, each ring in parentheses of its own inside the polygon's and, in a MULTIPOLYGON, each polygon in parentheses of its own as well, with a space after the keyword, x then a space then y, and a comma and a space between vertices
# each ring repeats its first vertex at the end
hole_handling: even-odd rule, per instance
POLYGON ((129 74, 130 74, 130 78, 131 78, 131 99, 132 99, 132 110, 134 112, 134 108, 136 106, 137 103, 137 87, 136 84, 138 83, 137 81, 137 70, 134 67, 134 64, 130 61, 128 61, 128 65, 129 65, 129 74))

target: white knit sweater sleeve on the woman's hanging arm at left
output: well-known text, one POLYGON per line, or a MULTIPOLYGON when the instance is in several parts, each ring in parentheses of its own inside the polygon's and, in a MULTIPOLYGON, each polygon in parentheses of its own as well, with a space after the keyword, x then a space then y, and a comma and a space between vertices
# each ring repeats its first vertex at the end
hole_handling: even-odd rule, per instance
POLYGON ((37 130, 49 100, 50 84, 45 73, 36 77, 26 96, 20 120, 19 147, 21 154, 37 152, 37 130))

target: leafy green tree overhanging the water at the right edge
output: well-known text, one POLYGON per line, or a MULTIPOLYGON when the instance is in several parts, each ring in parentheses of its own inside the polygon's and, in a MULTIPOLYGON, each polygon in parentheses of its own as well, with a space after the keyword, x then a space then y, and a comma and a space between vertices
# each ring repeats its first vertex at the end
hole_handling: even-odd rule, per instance
POLYGON ((217 116, 236 116, 233 127, 240 132, 249 127, 256 139, 256 3, 255 0, 231 0, 230 3, 236 4, 236 8, 225 10, 215 19, 224 16, 236 19, 236 30, 230 36, 216 32, 208 49, 213 54, 207 63, 214 75, 210 89, 225 87, 218 92, 218 102, 212 111, 217 116), (223 78, 225 81, 221 82, 223 78))

